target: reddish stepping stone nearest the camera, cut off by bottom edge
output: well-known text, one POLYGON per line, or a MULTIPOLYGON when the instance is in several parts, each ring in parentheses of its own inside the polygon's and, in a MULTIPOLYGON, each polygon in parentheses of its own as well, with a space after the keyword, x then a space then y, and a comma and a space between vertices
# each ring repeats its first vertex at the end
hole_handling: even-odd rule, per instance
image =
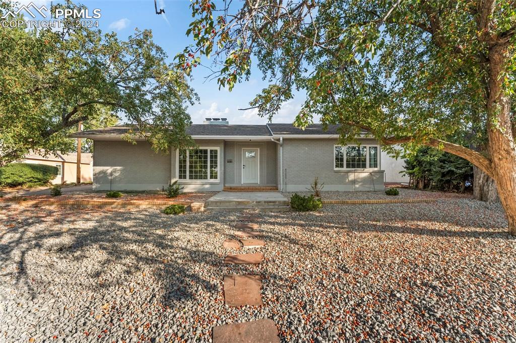
POLYGON ((225 324, 213 328, 213 343, 279 343, 278 328, 272 319, 225 324))

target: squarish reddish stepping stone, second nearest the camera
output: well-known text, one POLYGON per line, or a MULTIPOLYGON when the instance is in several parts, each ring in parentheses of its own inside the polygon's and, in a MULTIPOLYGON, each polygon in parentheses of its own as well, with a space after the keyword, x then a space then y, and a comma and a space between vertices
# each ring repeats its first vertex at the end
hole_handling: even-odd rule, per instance
POLYGON ((224 301, 228 306, 263 305, 259 275, 224 275, 224 301))

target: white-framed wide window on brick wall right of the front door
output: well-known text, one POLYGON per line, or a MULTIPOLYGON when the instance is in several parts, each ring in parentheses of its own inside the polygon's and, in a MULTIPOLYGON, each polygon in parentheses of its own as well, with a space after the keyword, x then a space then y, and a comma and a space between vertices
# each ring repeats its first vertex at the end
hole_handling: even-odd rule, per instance
POLYGON ((335 145, 334 169, 378 169, 378 145, 335 145))

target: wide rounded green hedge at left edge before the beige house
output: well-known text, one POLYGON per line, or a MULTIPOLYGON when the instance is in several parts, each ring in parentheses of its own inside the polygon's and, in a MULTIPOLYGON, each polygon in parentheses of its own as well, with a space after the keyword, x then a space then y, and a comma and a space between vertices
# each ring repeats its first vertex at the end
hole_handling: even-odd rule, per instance
POLYGON ((0 168, 0 186, 41 186, 57 176, 57 167, 34 163, 11 163, 0 168))

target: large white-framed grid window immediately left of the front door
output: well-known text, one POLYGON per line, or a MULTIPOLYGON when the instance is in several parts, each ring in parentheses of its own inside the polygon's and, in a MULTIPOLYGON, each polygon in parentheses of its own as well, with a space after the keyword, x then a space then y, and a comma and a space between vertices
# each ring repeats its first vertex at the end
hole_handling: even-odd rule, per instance
POLYGON ((219 179, 219 148, 182 149, 178 151, 179 180, 219 179))

